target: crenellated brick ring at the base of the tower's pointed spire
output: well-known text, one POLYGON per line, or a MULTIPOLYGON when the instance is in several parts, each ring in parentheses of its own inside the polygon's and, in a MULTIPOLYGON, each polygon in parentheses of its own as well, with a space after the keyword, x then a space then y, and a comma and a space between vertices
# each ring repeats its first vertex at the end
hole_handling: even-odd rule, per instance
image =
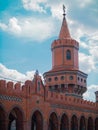
POLYGON ((74 39, 57 39, 52 43, 51 48, 54 49, 61 46, 74 46, 79 49, 79 43, 74 39))

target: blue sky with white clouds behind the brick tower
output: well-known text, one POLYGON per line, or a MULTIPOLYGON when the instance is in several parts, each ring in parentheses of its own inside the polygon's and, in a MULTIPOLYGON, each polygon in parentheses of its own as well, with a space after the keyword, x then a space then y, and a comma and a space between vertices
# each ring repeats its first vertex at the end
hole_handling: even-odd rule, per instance
POLYGON ((80 43, 79 68, 88 74, 87 100, 98 90, 97 0, 0 0, 0 78, 24 82, 51 69, 51 43, 58 38, 62 5, 71 36, 80 43))

